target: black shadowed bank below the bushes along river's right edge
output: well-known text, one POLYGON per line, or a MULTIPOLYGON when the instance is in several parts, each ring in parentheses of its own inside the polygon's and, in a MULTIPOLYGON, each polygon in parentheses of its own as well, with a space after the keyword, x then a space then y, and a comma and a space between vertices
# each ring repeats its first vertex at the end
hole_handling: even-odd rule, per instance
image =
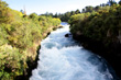
POLYGON ((73 34, 73 38, 78 41, 84 48, 103 57, 114 69, 117 76, 121 78, 121 44, 111 43, 106 47, 102 42, 94 41, 84 35, 73 34))

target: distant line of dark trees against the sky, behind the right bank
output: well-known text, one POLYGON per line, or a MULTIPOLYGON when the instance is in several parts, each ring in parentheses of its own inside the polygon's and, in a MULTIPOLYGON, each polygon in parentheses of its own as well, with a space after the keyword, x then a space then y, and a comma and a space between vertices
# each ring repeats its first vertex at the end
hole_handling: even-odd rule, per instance
POLYGON ((79 9, 77 9, 76 11, 68 11, 66 13, 56 13, 56 14, 46 12, 45 14, 42 14, 42 15, 59 18, 63 22, 68 22, 68 20, 72 15, 75 15, 75 14, 78 14, 78 13, 97 12, 102 7, 108 7, 108 5, 110 7, 112 4, 117 4, 117 2, 113 1, 113 0, 109 0, 107 3, 102 3, 102 4, 97 5, 97 7, 91 7, 91 5, 85 7, 81 11, 79 9))

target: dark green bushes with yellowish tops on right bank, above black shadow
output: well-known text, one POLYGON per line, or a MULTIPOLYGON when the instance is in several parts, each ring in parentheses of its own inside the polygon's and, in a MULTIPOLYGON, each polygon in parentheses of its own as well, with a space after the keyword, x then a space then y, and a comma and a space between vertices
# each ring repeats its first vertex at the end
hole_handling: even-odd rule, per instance
POLYGON ((70 32, 102 43, 117 43, 119 31, 121 30, 121 5, 107 5, 97 12, 76 14, 70 16, 70 32))

